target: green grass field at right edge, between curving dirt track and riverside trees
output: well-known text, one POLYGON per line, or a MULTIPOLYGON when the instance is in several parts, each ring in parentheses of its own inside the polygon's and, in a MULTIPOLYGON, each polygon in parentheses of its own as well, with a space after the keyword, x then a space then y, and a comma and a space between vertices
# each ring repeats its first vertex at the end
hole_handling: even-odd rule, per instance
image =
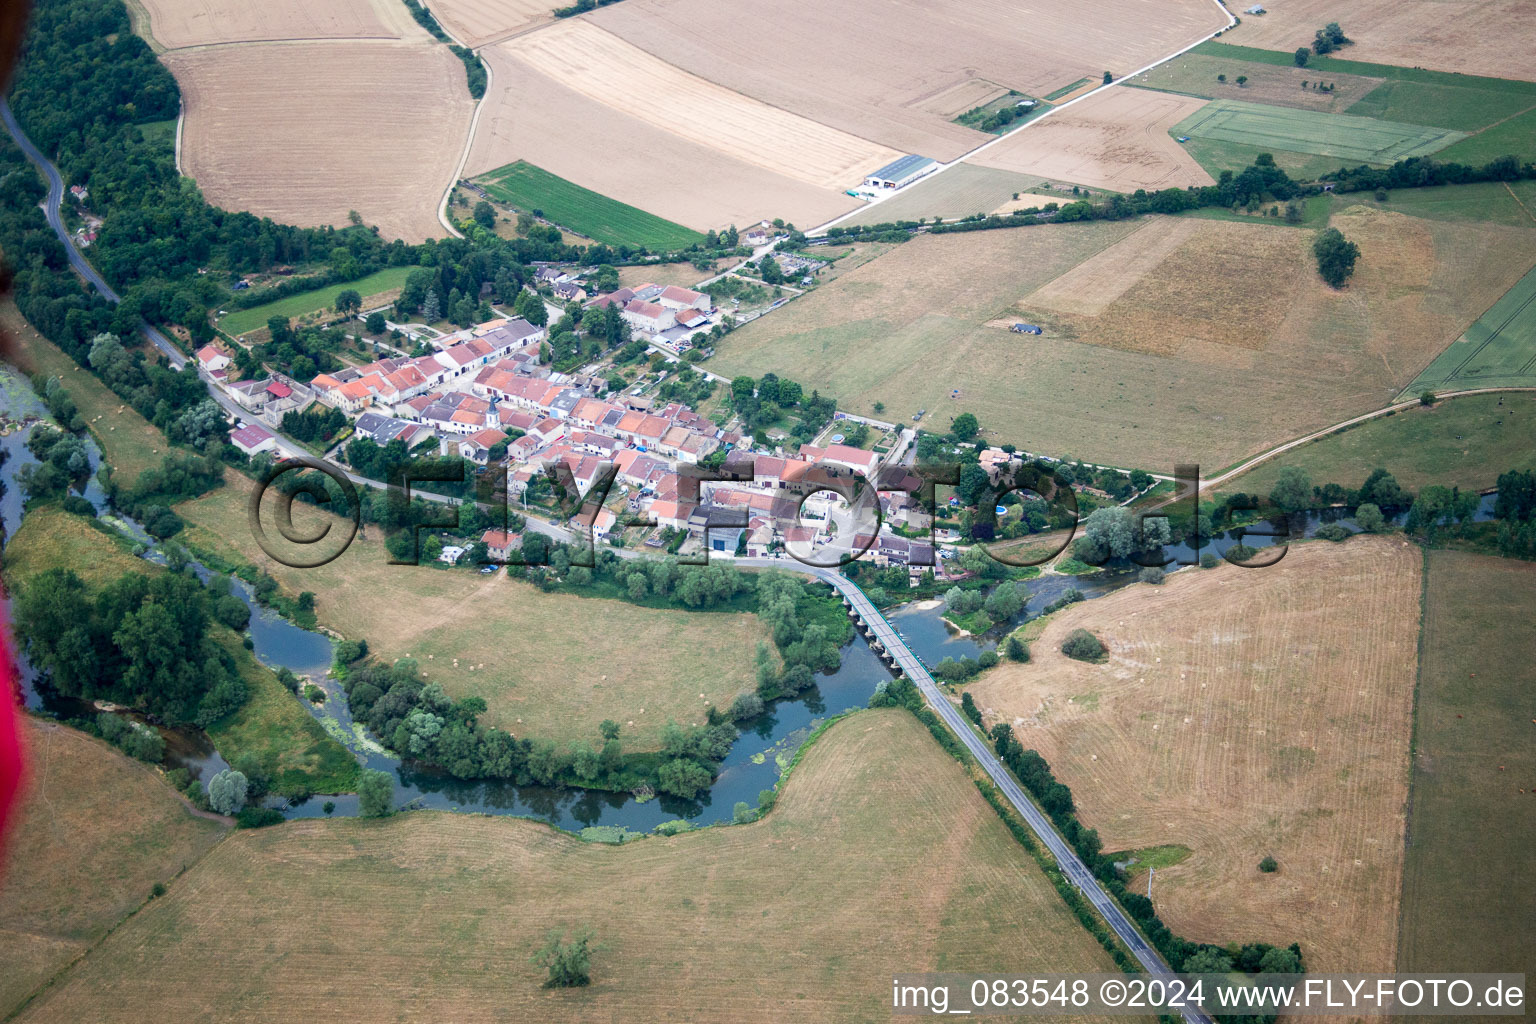
POLYGON ((1287 465, 1313 484, 1359 487, 1376 467, 1410 491, 1430 484, 1484 490, 1505 470, 1536 468, 1536 395, 1467 395, 1372 419, 1292 448, 1223 491, 1267 494, 1287 465))

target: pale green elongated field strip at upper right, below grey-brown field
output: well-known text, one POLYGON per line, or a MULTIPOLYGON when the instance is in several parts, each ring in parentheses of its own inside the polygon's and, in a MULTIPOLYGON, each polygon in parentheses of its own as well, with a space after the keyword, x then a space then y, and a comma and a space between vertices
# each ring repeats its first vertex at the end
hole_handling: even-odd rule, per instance
POLYGON ((1266 150, 1283 149, 1375 164, 1425 157, 1465 138, 1462 132, 1448 129, 1243 100, 1212 100, 1180 121, 1172 132, 1266 150))

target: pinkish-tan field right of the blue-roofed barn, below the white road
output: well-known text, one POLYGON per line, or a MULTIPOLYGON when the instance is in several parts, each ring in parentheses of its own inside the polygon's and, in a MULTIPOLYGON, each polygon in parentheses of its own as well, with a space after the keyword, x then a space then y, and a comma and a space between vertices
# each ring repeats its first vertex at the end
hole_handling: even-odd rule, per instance
POLYGON ((1107 89, 1005 137, 974 163, 1114 192, 1212 184, 1169 135, 1203 106, 1169 92, 1107 89))

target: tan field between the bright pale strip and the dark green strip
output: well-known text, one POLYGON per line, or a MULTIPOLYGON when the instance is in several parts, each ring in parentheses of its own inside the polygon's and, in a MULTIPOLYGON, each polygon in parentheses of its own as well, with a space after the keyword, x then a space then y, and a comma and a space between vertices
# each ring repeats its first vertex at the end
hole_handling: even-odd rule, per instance
POLYGON ((710 126, 668 130, 636 117, 622 94, 608 101, 584 95, 519 58, 508 49, 511 41, 481 51, 492 68, 492 88, 464 167, 467 177, 524 160, 696 230, 776 216, 813 226, 859 204, 842 190, 806 184, 717 149, 710 126))

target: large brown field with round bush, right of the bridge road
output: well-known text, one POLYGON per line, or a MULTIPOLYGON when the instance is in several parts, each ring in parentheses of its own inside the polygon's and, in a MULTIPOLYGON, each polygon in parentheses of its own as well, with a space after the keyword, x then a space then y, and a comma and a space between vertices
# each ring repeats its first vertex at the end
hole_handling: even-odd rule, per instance
POLYGON ((1028 665, 969 689, 1072 788, 1104 849, 1193 851, 1152 887, 1174 932, 1392 970, 1419 563, 1405 540, 1361 537, 1186 570, 1060 613, 1028 665), (1106 663, 1061 654, 1078 626, 1106 663))

